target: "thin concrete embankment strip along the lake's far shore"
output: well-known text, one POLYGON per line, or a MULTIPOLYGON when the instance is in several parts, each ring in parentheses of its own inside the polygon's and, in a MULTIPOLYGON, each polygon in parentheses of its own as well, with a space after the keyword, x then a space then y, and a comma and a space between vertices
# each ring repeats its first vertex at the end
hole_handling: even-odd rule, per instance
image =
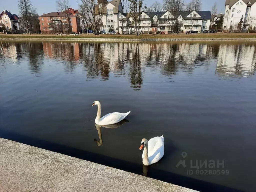
POLYGON ((256 38, 177 38, 177 39, 121 39, 121 38, 0 38, 0 40, 34 41, 93 41, 93 42, 139 42, 139 41, 256 41, 256 38))

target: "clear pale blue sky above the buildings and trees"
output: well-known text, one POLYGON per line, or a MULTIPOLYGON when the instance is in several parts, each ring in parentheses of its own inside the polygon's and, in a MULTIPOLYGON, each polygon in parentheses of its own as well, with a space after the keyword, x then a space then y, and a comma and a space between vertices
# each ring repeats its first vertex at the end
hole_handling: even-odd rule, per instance
MULTIPOLYGON (((56 1, 55 0, 30 0, 31 3, 36 7, 38 15, 42 15, 43 13, 50 13, 57 11, 56 8, 56 1)), ((156 0, 144 0, 147 6, 150 6, 156 0)), ((218 13, 225 11, 225 0, 201 0, 202 1, 202 10, 211 10, 212 5, 214 2, 217 2, 217 9, 218 13)), ((78 9, 78 2, 80 0, 69 0, 70 7, 73 9, 78 9)), ((158 0, 157 2, 162 2, 162 0, 158 0)), ((185 0, 185 2, 189 2, 189 0, 185 0)), ((11 13, 19 14, 18 13, 18 1, 17 0, 9 0, 9 1, 1 1, 0 10, 1 12, 6 9, 10 10, 11 13)), ((1 13, 0 12, 0 13, 1 13)))

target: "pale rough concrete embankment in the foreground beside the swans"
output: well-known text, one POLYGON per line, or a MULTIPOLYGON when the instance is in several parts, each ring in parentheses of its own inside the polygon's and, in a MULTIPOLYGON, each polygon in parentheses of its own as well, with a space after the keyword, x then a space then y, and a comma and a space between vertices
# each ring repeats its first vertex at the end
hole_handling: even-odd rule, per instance
POLYGON ((0 138, 0 149, 1 192, 196 192, 3 138, 0 138))

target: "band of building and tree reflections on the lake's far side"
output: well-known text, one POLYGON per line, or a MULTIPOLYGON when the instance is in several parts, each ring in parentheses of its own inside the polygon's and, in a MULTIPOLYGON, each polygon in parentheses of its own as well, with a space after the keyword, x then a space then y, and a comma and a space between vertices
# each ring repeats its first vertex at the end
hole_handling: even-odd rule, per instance
MULTIPOLYGON (((26 56, 34 74, 40 74, 48 58, 59 61, 67 73, 82 66, 88 79, 108 80, 111 73, 127 76, 134 90, 141 89, 146 69, 172 77, 179 71, 193 74, 196 67, 208 69, 212 64, 217 75, 248 77, 256 68, 254 43, 1 42, 1 60, 17 63, 26 56)), ((4 63, 0 67, 4 68, 4 63)))

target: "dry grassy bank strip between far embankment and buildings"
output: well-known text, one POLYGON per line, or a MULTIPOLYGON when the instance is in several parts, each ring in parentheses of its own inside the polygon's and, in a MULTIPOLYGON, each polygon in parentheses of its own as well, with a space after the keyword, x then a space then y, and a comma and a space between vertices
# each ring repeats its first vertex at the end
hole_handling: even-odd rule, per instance
POLYGON ((178 34, 178 35, 152 35, 152 34, 144 34, 140 36, 136 35, 109 35, 109 34, 101 34, 99 36, 89 34, 89 35, 79 35, 79 36, 73 36, 73 35, 25 35, 25 34, 18 34, 18 35, 0 35, 0 38, 116 38, 116 39, 188 39, 188 38, 256 38, 256 33, 232 33, 232 34, 226 34, 226 33, 210 33, 210 34, 178 34))

